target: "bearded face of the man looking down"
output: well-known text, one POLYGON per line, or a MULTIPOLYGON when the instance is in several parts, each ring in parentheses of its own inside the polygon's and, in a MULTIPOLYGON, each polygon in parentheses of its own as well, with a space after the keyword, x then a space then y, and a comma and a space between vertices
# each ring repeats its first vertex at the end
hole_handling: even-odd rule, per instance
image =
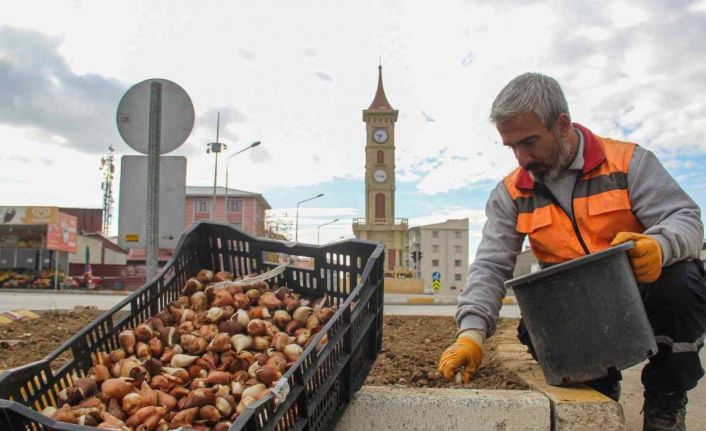
MULTIPOLYGON (((563 115, 563 114, 562 114, 563 115)), ((559 118, 554 130, 547 129, 537 114, 525 112, 497 123, 503 145, 512 149, 517 162, 536 179, 555 179, 570 163, 566 127, 568 118, 559 118)))

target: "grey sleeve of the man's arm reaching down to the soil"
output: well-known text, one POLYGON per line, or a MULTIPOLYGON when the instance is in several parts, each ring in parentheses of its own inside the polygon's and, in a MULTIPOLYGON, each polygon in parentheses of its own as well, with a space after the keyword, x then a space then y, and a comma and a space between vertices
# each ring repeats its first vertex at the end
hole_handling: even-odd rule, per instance
POLYGON ((504 283, 512 277, 524 234, 515 230, 517 210, 503 182, 490 193, 485 214, 483 238, 468 269, 466 288, 458 298, 456 321, 459 331, 475 329, 490 336, 495 332, 504 283))

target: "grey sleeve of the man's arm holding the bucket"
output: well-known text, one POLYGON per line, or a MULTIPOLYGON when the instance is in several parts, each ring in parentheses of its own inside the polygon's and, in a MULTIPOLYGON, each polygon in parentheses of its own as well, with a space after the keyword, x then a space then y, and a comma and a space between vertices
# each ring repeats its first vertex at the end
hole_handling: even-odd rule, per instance
POLYGON ((662 247, 664 266, 695 259, 704 238, 701 211, 650 151, 637 146, 628 169, 632 210, 662 247))

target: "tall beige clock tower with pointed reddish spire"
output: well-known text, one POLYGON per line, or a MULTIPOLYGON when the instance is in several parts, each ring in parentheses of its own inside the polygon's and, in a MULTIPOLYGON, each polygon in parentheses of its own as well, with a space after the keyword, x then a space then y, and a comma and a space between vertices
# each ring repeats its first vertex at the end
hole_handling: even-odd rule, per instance
POLYGON ((385 269, 406 270, 407 219, 395 218, 395 122, 398 111, 390 106, 378 66, 373 103, 363 110, 365 122, 365 218, 353 220, 358 239, 385 244, 385 269))

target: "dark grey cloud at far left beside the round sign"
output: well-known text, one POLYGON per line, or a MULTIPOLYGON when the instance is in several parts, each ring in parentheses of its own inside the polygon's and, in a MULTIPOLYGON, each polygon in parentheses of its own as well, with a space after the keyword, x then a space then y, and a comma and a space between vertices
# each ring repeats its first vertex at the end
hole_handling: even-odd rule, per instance
POLYGON ((77 75, 59 53, 61 39, 0 26, 0 124, 86 153, 120 142, 115 111, 127 86, 77 75))

